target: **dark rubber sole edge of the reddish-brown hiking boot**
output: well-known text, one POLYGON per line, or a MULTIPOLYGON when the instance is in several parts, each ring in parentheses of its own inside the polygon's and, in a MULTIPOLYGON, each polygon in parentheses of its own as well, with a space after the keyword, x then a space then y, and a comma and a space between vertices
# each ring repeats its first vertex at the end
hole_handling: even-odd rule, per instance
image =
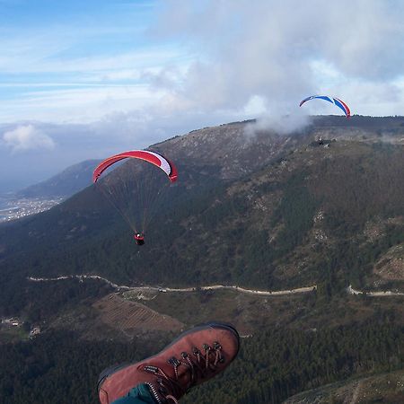
MULTIPOLYGON (((237 331, 237 329, 235 329, 233 327, 233 325, 231 324, 227 324, 224 322, 206 322, 204 324, 199 324, 198 326, 195 326, 193 329, 188 329, 187 331, 182 332, 177 338, 175 338, 174 340, 171 341, 171 343, 169 345, 167 345, 166 347, 164 347, 162 349, 162 351, 165 351, 167 348, 173 346, 174 344, 177 343, 177 341, 179 341, 181 338, 184 338, 185 336, 189 335, 189 334, 193 334, 196 331, 201 331, 203 329, 226 329, 229 331, 233 332, 233 335, 237 338, 237 352, 236 355, 239 353, 239 349, 240 349, 240 336, 239 333, 237 331)), ((160 351, 158 354, 155 354, 154 356, 159 356, 162 351, 160 351)), ((141 361, 137 361, 137 362, 144 362, 147 361, 149 359, 154 358, 154 356, 149 356, 146 357, 145 359, 142 359, 141 361)), ((106 369, 104 369, 101 373, 100 376, 98 378, 98 382, 97 382, 97 391, 100 392, 101 389, 101 385, 102 383, 108 378, 110 377, 112 374, 119 372, 120 370, 131 366, 132 364, 136 364, 137 362, 133 362, 133 363, 123 363, 123 364, 115 364, 112 365, 110 367, 107 367, 106 369)))

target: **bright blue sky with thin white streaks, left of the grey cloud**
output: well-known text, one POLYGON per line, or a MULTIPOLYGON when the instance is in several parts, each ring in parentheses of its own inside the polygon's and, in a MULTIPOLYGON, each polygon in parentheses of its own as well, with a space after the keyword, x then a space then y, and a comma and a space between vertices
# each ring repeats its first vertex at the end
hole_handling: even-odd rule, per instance
POLYGON ((83 123, 130 110, 149 101, 142 75, 184 57, 178 46, 148 32, 154 2, 0 4, 3 122, 83 123))

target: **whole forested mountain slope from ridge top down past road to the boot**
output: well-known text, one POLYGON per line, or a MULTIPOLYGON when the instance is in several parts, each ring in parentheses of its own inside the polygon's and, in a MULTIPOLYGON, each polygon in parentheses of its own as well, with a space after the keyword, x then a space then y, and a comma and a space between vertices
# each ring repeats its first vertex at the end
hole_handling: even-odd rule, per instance
POLYGON ((0 226, 0 313, 43 329, 32 340, 21 340, 22 330, 0 333, 4 402, 95 403, 103 367, 155 353, 174 330, 212 319, 236 324, 242 349, 224 376, 185 402, 278 403, 402 370, 404 119, 317 118, 291 136, 247 136, 251 124, 151 147, 180 176, 140 249, 93 187, 0 226), (67 275, 157 287, 147 295, 67 275), (310 291, 199 287, 216 284, 310 291), (350 295, 348 285, 364 293, 350 295), (190 291, 164 293, 169 286, 190 291), (374 290, 397 295, 366 294, 374 290), (153 329, 145 321, 142 330, 131 313, 167 322, 153 329))

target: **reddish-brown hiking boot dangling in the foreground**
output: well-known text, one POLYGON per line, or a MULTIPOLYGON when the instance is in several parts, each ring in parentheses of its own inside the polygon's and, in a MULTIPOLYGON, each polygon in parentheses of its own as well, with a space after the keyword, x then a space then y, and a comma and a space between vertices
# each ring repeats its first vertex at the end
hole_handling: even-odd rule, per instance
POLYGON ((180 334, 157 355, 103 371, 98 382, 102 404, 146 384, 157 403, 177 403, 189 389, 221 373, 239 351, 239 334, 228 324, 210 322, 180 334))

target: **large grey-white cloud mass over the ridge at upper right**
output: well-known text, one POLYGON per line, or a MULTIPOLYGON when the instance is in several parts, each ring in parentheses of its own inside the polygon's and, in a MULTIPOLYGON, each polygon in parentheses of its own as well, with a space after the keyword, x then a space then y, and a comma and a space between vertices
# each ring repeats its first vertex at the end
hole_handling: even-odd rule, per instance
MULTIPOLYGON (((313 93, 338 96, 367 115, 389 115, 404 104, 397 84, 404 72, 402 1, 175 0, 164 10, 161 35, 201 55, 165 87, 171 110, 251 111, 251 100, 260 100, 262 121, 279 127, 285 115, 298 122, 299 101, 313 93)), ((310 110, 324 113, 321 104, 310 110)))

